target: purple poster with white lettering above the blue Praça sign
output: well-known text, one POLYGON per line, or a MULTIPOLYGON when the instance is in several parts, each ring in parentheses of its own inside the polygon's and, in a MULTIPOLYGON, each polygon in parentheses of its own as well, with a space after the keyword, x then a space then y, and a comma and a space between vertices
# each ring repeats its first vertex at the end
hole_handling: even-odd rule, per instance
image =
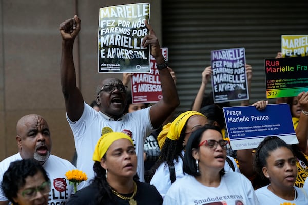
POLYGON ((214 103, 249 99, 245 61, 244 48, 211 51, 214 103))

